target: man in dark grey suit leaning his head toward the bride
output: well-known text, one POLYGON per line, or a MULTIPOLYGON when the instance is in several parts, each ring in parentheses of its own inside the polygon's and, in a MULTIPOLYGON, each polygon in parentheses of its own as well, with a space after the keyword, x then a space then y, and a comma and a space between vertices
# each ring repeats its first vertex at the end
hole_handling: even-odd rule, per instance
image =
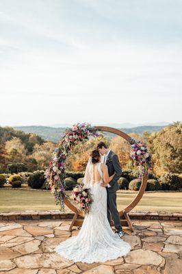
POLYGON ((118 155, 114 153, 111 149, 107 148, 105 142, 99 142, 96 146, 101 155, 104 156, 103 164, 107 164, 109 176, 112 176, 114 172, 114 178, 109 184, 102 183, 102 186, 105 186, 107 189, 107 219, 111 224, 111 216, 114 221, 114 226, 116 232, 121 237, 124 235, 122 231, 122 226, 120 225, 120 214, 116 206, 116 191, 118 188, 118 179, 122 174, 122 169, 120 167, 120 162, 118 160, 118 155))

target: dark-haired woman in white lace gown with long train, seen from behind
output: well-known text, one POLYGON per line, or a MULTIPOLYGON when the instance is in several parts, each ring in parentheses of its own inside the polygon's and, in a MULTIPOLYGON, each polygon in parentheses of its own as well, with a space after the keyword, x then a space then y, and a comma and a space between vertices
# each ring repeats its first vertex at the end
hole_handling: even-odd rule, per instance
POLYGON ((131 246, 113 232, 107 220, 107 190, 101 182, 109 183, 114 175, 109 177, 98 150, 92 151, 90 156, 83 178, 84 186, 91 189, 90 211, 85 215, 79 234, 60 242, 55 252, 73 262, 92 264, 125 256, 131 246))

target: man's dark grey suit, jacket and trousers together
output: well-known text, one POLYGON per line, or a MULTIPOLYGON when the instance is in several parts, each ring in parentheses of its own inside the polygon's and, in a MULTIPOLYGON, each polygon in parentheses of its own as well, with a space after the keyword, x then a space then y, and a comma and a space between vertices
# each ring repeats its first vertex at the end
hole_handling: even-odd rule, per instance
POLYGON ((116 191, 119 189, 118 187, 118 179, 122 174, 122 169, 120 167, 120 162, 118 160, 118 155, 114 153, 112 150, 109 151, 107 155, 105 164, 108 167, 109 176, 112 176, 114 172, 114 178, 111 182, 109 182, 109 186, 106 186, 107 189, 107 219, 109 223, 111 223, 111 216, 114 221, 114 226, 118 231, 122 231, 122 227, 120 225, 120 214, 117 210, 116 206, 116 191))

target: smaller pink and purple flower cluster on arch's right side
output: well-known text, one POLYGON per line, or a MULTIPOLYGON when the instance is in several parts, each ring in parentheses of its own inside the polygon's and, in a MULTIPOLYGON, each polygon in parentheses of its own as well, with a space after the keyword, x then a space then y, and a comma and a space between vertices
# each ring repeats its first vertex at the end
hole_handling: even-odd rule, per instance
POLYGON ((148 149, 144 142, 131 138, 129 143, 131 144, 130 157, 135 165, 139 166, 140 173, 138 178, 141 179, 142 175, 148 175, 148 171, 152 170, 151 153, 148 153, 148 149))

